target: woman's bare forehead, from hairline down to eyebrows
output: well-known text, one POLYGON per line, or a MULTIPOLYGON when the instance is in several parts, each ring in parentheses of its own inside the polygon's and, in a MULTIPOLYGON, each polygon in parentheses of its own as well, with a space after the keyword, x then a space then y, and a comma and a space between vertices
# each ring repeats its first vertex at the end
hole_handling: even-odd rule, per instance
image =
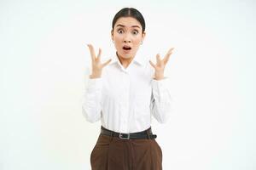
POLYGON ((140 22, 133 17, 120 17, 114 25, 114 27, 117 26, 142 28, 140 22))

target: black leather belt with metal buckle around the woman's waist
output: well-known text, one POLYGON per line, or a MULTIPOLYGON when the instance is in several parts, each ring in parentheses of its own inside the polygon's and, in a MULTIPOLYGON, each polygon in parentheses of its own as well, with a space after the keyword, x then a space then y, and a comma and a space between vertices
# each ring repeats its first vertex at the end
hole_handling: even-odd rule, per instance
POLYGON ((138 133, 117 133, 101 127, 101 133, 108 136, 119 137, 119 139, 156 139, 156 134, 152 133, 151 127, 138 133))

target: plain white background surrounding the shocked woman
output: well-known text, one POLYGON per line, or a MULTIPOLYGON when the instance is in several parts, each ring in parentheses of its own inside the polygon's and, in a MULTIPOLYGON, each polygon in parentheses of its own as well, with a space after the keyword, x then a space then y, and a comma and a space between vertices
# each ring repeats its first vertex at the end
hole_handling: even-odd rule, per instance
POLYGON ((256 169, 253 0, 0 1, 0 169, 90 169, 101 124, 81 111, 86 43, 112 56, 124 7, 146 20, 138 53, 175 48, 166 74, 177 112, 152 123, 164 169, 256 169))

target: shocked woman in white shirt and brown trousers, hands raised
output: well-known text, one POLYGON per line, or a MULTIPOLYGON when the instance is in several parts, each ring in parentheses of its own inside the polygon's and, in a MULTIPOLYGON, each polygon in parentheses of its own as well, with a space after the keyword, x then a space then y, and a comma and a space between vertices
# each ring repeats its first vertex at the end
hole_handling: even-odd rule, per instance
POLYGON ((90 155, 92 170, 160 170, 162 150, 152 133, 151 116, 166 122, 172 97, 164 70, 171 48, 156 64, 136 56, 145 37, 143 15, 135 8, 115 14, 111 37, 113 59, 101 62, 101 48, 90 48, 92 71, 84 93, 83 114, 101 120, 101 133, 90 155), (110 63, 113 61, 112 63, 110 63))

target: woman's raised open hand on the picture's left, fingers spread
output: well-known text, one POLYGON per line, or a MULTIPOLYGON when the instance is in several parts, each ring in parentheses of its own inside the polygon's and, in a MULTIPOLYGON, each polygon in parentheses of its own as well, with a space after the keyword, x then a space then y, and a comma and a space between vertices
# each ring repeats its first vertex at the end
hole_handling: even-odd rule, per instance
POLYGON ((93 46, 91 44, 87 44, 87 46, 90 48, 90 57, 91 57, 91 65, 92 65, 92 72, 91 72, 90 78, 101 77, 103 67, 108 65, 111 59, 108 59, 108 61, 106 61, 105 63, 101 63, 102 49, 99 48, 99 54, 96 57, 93 46))

